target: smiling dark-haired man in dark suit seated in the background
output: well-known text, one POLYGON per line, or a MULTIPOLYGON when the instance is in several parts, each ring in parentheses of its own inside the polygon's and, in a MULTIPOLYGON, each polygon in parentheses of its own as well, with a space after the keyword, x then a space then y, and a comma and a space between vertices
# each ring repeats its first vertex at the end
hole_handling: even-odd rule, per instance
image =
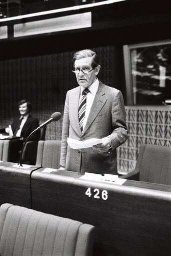
MULTIPOLYGON (((38 126, 38 119, 30 115, 31 104, 27 100, 20 100, 18 102, 19 117, 15 117, 11 124, 11 129, 13 133, 13 138, 11 140, 11 162, 16 162, 19 160, 20 150, 22 145, 29 134, 35 130, 38 126)), ((10 129, 7 127, 5 129, 0 129, 0 132, 6 132, 9 135, 10 129)), ((39 131, 33 133, 29 140, 38 140, 39 131)))

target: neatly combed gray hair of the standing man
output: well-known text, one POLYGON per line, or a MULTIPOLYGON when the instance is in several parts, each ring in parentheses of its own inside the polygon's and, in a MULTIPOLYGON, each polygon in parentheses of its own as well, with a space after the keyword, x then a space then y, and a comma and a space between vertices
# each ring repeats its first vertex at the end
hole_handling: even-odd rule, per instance
POLYGON ((81 51, 74 53, 73 59, 72 59, 73 66, 74 66, 75 60, 80 60, 80 59, 87 58, 87 57, 92 57, 91 67, 93 69, 99 65, 99 59, 98 59, 96 53, 91 51, 90 49, 85 49, 85 50, 81 50, 81 51))

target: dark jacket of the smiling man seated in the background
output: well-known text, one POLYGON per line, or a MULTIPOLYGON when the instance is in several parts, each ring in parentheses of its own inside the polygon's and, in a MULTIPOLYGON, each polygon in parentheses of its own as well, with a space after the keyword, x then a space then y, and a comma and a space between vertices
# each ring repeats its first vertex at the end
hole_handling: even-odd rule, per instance
MULTIPOLYGON (((14 133, 15 129, 17 128, 17 124, 19 122, 19 117, 13 119, 11 124, 12 132, 14 133)), ((28 116, 26 122, 24 123, 20 137, 23 138, 23 141, 29 136, 29 134, 35 130, 39 126, 38 119, 32 117, 31 115, 28 116)), ((5 132, 5 129, 0 129, 0 132, 5 132)), ((39 131, 33 133, 28 140, 38 140, 39 139, 39 131)))

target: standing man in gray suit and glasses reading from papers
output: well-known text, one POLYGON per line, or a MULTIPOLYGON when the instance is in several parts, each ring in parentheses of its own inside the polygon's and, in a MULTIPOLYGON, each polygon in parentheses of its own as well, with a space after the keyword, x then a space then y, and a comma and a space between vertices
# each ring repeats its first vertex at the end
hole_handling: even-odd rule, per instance
POLYGON ((100 65, 93 51, 76 52, 73 67, 79 86, 66 94, 60 169, 117 174, 116 148, 127 139, 122 94, 97 79, 100 65), (67 137, 81 141, 100 138, 102 143, 72 149, 67 145, 67 137))

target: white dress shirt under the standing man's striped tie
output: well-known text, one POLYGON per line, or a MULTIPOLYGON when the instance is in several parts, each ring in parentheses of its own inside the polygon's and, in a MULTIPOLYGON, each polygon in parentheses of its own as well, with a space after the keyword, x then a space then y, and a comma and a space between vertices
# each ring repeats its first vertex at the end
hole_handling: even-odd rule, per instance
MULTIPOLYGON (((98 81, 98 79, 96 79, 95 82, 92 85, 90 85, 90 87, 88 87, 89 93, 87 93, 87 95, 86 95, 86 109, 85 109, 85 116, 84 116, 83 123, 82 123, 82 130, 85 127, 85 124, 86 124, 86 121, 87 121, 87 118, 88 118, 88 115, 89 115, 89 112, 90 112, 90 109, 92 106, 92 102, 93 102, 95 94, 98 90, 98 85, 99 85, 99 81, 98 81)), ((82 91, 84 89, 85 88, 81 87, 79 101, 81 99, 82 91)))

